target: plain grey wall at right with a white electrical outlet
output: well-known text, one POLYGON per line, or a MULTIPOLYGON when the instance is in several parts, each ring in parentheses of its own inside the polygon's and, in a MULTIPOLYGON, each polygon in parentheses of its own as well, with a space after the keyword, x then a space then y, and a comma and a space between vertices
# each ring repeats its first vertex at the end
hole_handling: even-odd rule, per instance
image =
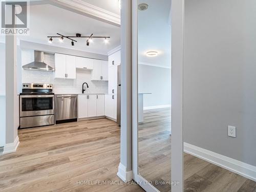
POLYGON ((255 10, 254 0, 185 0, 184 30, 184 141, 254 166, 255 10))

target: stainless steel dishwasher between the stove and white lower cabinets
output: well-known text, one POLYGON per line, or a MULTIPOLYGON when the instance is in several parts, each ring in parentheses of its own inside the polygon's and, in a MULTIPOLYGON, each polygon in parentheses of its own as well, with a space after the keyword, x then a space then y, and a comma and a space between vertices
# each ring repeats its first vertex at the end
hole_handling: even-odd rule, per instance
POLYGON ((77 121, 77 95, 55 95, 56 124, 77 121))

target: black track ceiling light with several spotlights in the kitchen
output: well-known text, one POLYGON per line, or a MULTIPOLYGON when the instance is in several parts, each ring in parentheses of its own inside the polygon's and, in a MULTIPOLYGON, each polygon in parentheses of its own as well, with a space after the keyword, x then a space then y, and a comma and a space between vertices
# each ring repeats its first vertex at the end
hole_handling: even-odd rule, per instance
POLYGON ((90 42, 93 42, 93 38, 103 38, 104 42, 106 43, 106 41, 109 42, 110 37, 106 37, 106 36, 93 36, 93 34, 91 34, 90 36, 82 36, 80 33, 76 33, 75 36, 66 36, 66 35, 61 35, 59 33, 57 33, 58 36, 47 36, 49 39, 49 43, 52 43, 53 38, 59 38, 60 42, 63 42, 64 38, 70 39, 71 40, 71 45, 74 46, 75 42, 77 42, 76 40, 74 40, 73 38, 87 38, 86 40, 86 45, 89 46, 90 42))

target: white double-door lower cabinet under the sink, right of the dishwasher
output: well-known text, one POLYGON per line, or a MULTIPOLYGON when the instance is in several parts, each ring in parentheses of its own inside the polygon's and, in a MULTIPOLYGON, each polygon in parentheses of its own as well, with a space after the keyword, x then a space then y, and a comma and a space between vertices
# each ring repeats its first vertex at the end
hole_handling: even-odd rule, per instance
POLYGON ((78 95, 78 118, 104 116, 104 95, 78 95))

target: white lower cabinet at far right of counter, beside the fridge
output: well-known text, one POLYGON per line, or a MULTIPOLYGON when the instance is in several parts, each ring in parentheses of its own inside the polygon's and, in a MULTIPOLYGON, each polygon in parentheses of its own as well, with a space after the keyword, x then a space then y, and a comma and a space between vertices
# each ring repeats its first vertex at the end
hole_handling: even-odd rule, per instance
POLYGON ((105 95, 105 116, 116 119, 117 115, 117 95, 105 95))

